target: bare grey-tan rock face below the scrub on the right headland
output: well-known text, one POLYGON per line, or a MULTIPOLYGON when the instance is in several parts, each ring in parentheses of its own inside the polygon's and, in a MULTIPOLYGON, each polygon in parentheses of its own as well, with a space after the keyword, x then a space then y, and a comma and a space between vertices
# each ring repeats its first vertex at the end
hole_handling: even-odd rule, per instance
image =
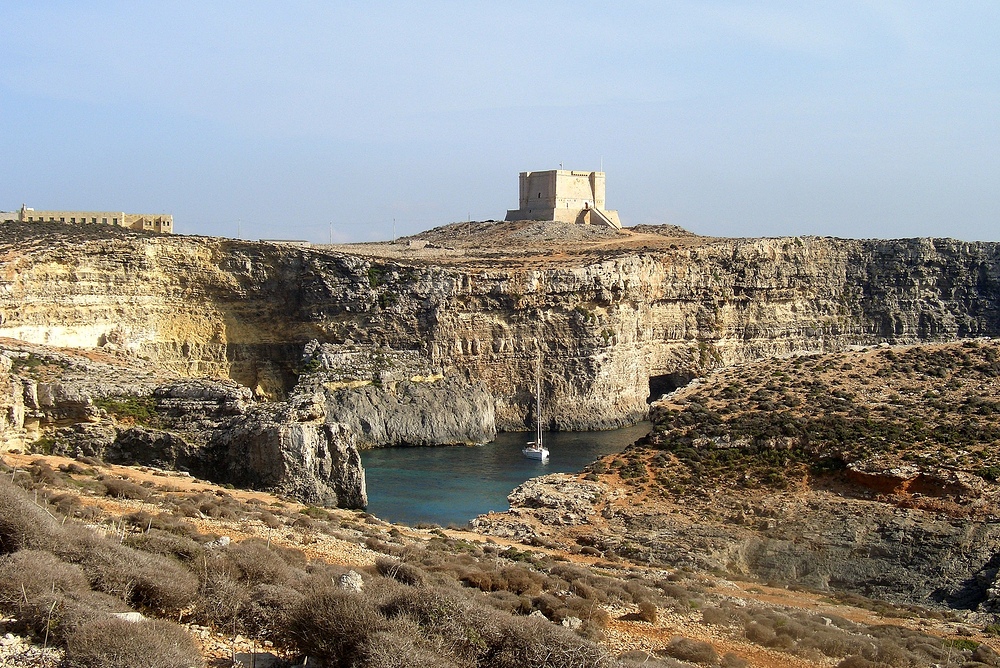
POLYGON ((714 494, 664 512, 564 474, 531 480, 508 498, 508 512, 480 516, 473 529, 879 600, 1000 610, 996 517, 954 518, 822 491, 714 494))

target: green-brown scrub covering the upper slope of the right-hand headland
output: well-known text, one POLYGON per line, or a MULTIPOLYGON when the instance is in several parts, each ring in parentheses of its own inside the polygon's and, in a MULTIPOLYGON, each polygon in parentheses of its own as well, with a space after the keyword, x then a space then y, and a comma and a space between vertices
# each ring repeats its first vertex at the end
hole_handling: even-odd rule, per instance
MULTIPOLYGON (((851 361, 811 356, 791 363, 801 370, 794 375, 778 360, 755 365, 754 376, 733 369, 654 407, 645 445, 661 485, 675 493, 734 483, 780 489, 885 455, 946 462, 995 482, 1000 401, 989 387, 1000 377, 997 348, 916 346, 851 361), (843 384, 845 369, 864 371, 856 374, 867 381, 863 393, 843 384)), ((620 468, 623 478, 636 477, 620 468)))

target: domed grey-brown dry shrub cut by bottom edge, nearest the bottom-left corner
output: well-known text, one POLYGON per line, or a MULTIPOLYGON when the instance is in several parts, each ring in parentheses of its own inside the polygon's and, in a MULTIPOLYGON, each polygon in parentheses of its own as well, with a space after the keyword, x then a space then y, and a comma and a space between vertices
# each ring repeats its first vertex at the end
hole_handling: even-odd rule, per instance
POLYGON ((184 628, 162 620, 101 619, 66 638, 67 668, 191 668, 204 665, 184 628))

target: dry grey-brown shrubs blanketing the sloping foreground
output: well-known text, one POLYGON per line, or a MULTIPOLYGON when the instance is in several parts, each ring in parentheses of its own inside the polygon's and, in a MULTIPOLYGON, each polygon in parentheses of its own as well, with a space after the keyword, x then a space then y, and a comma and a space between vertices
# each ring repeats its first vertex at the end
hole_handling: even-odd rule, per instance
MULTIPOLYGON (((625 465, 628 457, 621 461, 625 465)), ((78 468, 75 475, 92 479, 92 473, 78 468)), ((21 482, 36 490, 47 489, 38 487, 43 480, 65 488, 69 475, 39 462, 21 482)), ((84 493, 95 492, 104 494, 84 493)), ((961 638, 951 642, 893 626, 847 622, 829 613, 737 607, 708 593, 695 575, 678 572, 656 580, 601 573, 529 550, 453 538, 440 529, 430 530, 430 539, 414 541, 393 527, 366 522, 363 515, 269 506, 275 520, 289 525, 295 518, 308 519, 310 532, 378 543, 386 556, 362 573, 363 590, 344 591, 336 584, 344 567, 310 561, 300 550, 263 539, 213 546, 213 536, 197 533, 185 519, 192 508, 200 512, 199 507, 224 509, 221 514, 234 519, 255 517, 260 505, 221 490, 169 496, 149 492, 154 496, 145 507, 155 499, 161 510, 123 515, 115 520, 122 538, 107 540, 49 514, 55 515, 59 505, 78 507, 67 504, 65 492, 43 495, 51 505, 36 505, 9 482, 0 483, 0 545, 7 554, 0 558, 0 609, 20 620, 19 629, 39 637, 48 632, 50 642, 63 644, 67 662, 75 662, 67 665, 109 665, 101 663, 109 656, 123 657, 115 659, 117 665, 133 665, 127 661, 151 661, 151 651, 179 656, 178 661, 191 659, 187 632, 161 621, 119 634, 130 639, 128 653, 115 654, 122 651, 118 636, 99 641, 95 629, 106 635, 108 624, 118 623, 108 613, 129 609, 175 620, 180 614, 227 634, 324 657, 328 665, 637 665, 594 644, 611 621, 609 606, 632 610, 633 619, 652 625, 660 624, 667 611, 685 615, 743 642, 806 659, 827 657, 845 665, 922 666, 933 661, 957 668, 971 660, 992 665, 984 660, 990 659, 988 648, 961 638), (532 613, 545 619, 529 617, 532 613), (579 627, 574 633, 564 622, 579 627), (174 639, 170 648, 154 649, 158 646, 148 633, 153 628, 162 631, 157 637, 174 639)), ((914 609, 910 614, 922 613, 914 609)), ((660 658, 647 657, 644 665, 747 665, 740 656, 722 654, 697 638, 678 637, 662 651, 660 658)))

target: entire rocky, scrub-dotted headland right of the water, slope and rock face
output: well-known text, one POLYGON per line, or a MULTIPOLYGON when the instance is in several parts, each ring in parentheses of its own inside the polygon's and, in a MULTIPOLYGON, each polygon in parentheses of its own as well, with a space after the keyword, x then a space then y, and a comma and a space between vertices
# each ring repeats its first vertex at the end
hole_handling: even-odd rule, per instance
POLYGON ((981 340, 721 370, 654 405, 643 441, 529 481, 477 530, 989 623, 998 353, 981 340))

